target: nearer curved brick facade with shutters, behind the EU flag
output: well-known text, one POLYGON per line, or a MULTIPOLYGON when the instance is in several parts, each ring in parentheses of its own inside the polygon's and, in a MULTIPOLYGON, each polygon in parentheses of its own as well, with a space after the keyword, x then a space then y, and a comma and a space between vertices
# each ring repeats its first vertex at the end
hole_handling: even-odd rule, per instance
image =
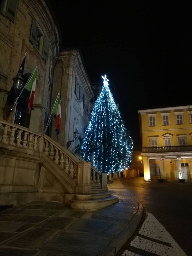
POLYGON ((30 115, 20 112, 25 120, 21 125, 43 132, 50 114, 53 62, 59 52, 59 30, 44 0, 0 0, 1 119, 14 122, 15 111, 7 117, 4 106, 13 85, 12 79, 16 77, 26 53, 25 80, 36 66, 38 72, 33 110, 30 115))

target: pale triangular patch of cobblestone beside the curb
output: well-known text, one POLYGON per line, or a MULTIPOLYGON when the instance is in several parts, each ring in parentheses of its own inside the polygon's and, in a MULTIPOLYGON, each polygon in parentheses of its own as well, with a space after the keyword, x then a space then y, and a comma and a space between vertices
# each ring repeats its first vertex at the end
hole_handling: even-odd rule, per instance
POLYGON ((166 229, 151 214, 121 256, 187 256, 166 229))

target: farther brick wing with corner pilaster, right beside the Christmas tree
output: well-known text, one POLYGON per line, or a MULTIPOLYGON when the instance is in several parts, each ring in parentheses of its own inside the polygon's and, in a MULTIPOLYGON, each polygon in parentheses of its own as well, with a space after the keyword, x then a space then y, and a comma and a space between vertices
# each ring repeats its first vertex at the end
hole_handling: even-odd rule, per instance
POLYGON ((94 102, 94 92, 78 50, 63 51, 58 57, 54 69, 53 99, 56 99, 58 91, 62 97, 62 130, 57 138, 53 120, 51 137, 76 152, 89 124, 94 102))

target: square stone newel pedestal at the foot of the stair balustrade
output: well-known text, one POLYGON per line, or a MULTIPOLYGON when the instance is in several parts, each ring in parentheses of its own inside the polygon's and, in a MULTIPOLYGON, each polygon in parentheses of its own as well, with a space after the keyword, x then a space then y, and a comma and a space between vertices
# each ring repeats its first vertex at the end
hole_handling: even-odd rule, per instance
POLYGON ((82 162, 78 164, 76 194, 91 194, 91 163, 82 162))

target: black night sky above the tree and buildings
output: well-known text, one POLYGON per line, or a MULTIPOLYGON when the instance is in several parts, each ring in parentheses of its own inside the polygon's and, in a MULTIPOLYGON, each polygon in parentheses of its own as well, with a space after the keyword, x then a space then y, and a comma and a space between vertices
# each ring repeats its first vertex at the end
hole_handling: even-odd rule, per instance
MULTIPOLYGON (((190 105, 192 19, 181 1, 49 0, 63 49, 81 50, 91 83, 109 78, 122 118, 141 149, 137 111, 190 105)), ((109 83, 110 83, 109 82, 109 83)))

